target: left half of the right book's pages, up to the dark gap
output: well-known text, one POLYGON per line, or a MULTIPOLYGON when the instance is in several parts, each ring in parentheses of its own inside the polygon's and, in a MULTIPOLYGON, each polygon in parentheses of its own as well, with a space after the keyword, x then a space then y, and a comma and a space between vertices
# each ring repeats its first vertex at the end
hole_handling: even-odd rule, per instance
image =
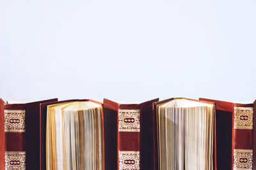
POLYGON ((159 146, 161 152, 161 169, 172 170, 172 169, 182 169, 184 161, 184 130, 183 124, 184 118, 181 108, 173 107, 162 107, 159 106, 159 115, 161 122, 160 126, 160 136, 161 145, 159 146), (163 159, 162 159, 163 158, 163 159))

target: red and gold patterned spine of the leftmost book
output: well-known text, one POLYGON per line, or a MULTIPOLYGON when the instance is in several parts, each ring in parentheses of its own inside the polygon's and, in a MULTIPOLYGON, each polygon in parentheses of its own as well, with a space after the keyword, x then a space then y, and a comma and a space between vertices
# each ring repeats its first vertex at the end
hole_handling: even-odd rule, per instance
POLYGON ((26 169, 25 110, 4 109, 5 170, 26 169))

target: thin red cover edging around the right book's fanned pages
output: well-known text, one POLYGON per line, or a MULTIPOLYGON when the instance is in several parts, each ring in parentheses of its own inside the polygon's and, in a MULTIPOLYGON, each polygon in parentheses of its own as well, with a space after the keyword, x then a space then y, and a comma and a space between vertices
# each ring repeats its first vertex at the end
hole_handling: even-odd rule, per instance
POLYGON ((201 102, 201 103, 207 103, 207 104, 214 104, 214 148, 213 148, 213 161, 214 161, 214 164, 213 164, 213 169, 214 170, 217 170, 217 166, 216 166, 216 106, 215 106, 215 103, 214 102, 211 102, 211 101, 200 101, 200 100, 195 100, 195 99, 188 99, 188 98, 185 98, 185 97, 173 97, 173 98, 170 98, 170 99, 165 99, 163 101, 157 101, 157 102, 154 102, 153 103, 153 106, 152 106, 152 109, 153 109, 153 127, 154 127, 154 131, 153 131, 153 134, 154 134, 154 170, 158 170, 158 151, 157 151, 157 132, 156 132, 156 106, 158 104, 163 104, 163 103, 167 103, 169 101, 172 101, 174 99, 186 99, 186 100, 189 100, 189 101, 196 101, 196 102, 201 102))

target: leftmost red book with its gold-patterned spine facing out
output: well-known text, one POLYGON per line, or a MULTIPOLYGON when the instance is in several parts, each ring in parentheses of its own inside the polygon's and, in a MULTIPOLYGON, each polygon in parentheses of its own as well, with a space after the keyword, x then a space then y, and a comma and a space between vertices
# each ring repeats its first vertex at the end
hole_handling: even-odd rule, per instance
POLYGON ((40 168, 40 103, 6 104, 0 99, 0 169, 40 168))

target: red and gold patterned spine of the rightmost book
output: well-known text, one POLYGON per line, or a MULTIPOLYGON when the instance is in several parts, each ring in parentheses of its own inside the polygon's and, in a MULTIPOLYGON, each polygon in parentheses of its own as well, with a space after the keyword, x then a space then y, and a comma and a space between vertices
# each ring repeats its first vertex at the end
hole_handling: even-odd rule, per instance
POLYGON ((253 107, 234 107, 233 170, 251 170, 253 160, 253 107))

